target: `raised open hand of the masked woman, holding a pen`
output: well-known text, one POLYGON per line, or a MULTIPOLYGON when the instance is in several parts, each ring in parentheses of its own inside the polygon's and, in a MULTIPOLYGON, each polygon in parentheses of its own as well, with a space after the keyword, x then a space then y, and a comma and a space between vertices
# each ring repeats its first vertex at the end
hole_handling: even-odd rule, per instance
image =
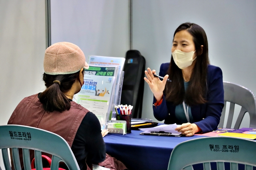
POLYGON ((163 97, 164 87, 168 78, 168 75, 164 76, 164 80, 160 80, 158 77, 154 77, 153 74, 156 74, 155 70, 148 68, 148 71, 145 71, 147 76, 144 77, 144 80, 148 83, 150 90, 153 92, 157 101, 160 101, 163 97))

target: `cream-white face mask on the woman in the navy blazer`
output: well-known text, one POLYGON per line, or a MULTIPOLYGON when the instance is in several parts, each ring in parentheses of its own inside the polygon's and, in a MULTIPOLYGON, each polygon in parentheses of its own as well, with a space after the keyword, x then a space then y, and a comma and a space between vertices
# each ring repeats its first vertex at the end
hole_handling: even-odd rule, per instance
POLYGON ((172 52, 172 57, 174 59, 175 64, 180 68, 184 69, 192 64, 192 62, 197 58, 193 59, 195 51, 191 52, 183 52, 181 50, 174 50, 172 52))

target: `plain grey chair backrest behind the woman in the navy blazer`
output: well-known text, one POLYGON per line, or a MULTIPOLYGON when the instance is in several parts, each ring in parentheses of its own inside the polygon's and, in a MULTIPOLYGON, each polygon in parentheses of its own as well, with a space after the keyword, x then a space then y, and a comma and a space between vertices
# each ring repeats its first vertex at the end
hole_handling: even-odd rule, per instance
POLYGON ((224 108, 221 113, 219 128, 231 128, 233 116, 234 116, 234 108, 235 104, 241 106, 241 111, 236 120, 234 129, 239 129, 240 124, 242 122, 243 116, 246 112, 249 113, 250 116, 250 128, 256 128, 256 100, 253 93, 238 84, 223 82, 224 87, 224 108), (226 102, 230 102, 230 109, 228 113, 228 120, 226 127, 224 125, 224 118, 226 112, 226 102))

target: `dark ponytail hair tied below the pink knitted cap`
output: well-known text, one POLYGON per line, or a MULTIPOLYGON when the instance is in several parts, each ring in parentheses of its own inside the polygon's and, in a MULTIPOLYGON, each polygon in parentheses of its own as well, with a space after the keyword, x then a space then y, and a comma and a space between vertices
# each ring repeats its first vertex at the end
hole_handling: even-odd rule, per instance
POLYGON ((48 75, 44 73, 43 80, 47 89, 39 97, 44 110, 62 112, 70 109, 70 101, 63 93, 71 89, 75 80, 79 78, 79 73, 80 71, 67 75, 48 75), (60 85, 53 83, 54 80, 60 81, 60 85))

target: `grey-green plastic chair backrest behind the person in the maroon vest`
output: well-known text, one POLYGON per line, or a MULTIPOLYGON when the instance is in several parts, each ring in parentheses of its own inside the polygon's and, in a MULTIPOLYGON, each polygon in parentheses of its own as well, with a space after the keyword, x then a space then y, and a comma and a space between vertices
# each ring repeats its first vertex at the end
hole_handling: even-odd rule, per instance
POLYGON ((52 155, 51 170, 64 162, 69 170, 80 170, 68 143, 61 136, 38 128, 21 125, 0 126, 0 149, 6 170, 11 170, 8 148, 12 149, 15 170, 21 170, 19 151, 22 148, 25 170, 31 170, 29 150, 35 152, 36 170, 42 170, 42 152, 52 155))

